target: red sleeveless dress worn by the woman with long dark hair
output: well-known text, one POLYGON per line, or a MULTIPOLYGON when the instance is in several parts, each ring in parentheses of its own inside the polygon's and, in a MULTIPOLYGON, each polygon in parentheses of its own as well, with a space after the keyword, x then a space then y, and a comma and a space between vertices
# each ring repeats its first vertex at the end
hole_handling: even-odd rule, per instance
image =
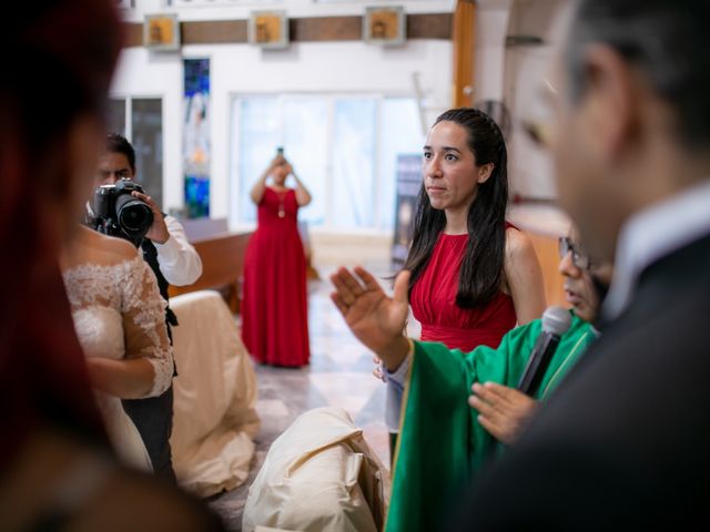
POLYGON ((456 305, 458 274, 467 244, 468 235, 442 233, 410 294, 412 311, 422 324, 422 340, 440 341, 464 352, 480 345, 498 347, 517 323, 513 298, 503 291, 483 308, 456 305))

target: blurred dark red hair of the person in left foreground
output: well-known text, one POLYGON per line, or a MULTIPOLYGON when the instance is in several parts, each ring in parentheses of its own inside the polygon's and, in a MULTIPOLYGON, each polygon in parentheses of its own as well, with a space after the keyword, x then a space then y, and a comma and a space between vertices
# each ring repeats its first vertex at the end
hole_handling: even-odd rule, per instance
MULTIPOLYGON (((69 190, 64 136, 102 117, 121 47, 110 0, 20 2, 0 33, 0 469, 38 424, 105 443, 74 334, 52 196, 69 190)), ((79 213, 78 213, 79 217, 79 213)))

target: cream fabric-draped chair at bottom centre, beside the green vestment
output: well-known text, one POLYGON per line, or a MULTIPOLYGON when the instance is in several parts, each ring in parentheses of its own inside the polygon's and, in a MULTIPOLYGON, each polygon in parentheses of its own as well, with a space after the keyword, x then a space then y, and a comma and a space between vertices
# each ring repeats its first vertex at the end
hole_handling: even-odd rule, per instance
POLYGON ((310 410, 272 443, 250 487, 242 530, 379 531, 386 475, 345 410, 310 410))

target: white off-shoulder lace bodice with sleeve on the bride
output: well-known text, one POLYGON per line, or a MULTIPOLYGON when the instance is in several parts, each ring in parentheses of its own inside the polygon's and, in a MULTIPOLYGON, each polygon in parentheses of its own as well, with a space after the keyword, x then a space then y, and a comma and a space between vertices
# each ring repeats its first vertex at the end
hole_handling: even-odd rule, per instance
POLYGON ((153 388, 145 397, 165 391, 173 377, 166 304, 143 258, 82 264, 63 276, 77 336, 87 356, 145 358, 155 370, 153 388))

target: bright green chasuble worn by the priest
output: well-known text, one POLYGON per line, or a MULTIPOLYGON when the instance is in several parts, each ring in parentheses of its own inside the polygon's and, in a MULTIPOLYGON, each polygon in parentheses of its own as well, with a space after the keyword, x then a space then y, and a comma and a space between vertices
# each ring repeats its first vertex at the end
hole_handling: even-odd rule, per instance
MULTIPOLYGON (((443 344, 415 342, 402 406, 387 532, 430 532, 445 524, 460 490, 499 447, 468 406, 470 387, 476 381, 493 381, 515 388, 541 326, 539 319, 531 321, 510 330, 497 349, 480 346, 468 354, 443 344)), ((572 314, 537 399, 561 381, 595 338, 591 326, 572 314)))

